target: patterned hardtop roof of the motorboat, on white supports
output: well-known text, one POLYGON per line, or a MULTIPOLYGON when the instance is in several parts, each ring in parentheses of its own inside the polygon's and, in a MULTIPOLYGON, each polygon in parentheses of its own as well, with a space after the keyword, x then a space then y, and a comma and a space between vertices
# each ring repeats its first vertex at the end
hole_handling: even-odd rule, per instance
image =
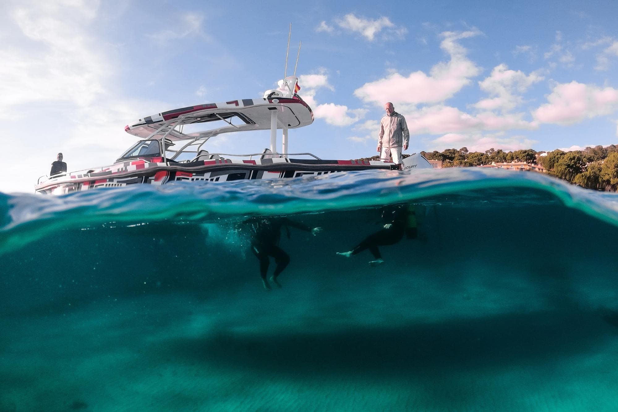
POLYGON ((124 130, 140 138, 161 139, 170 128, 174 128, 167 133, 166 138, 170 140, 205 138, 242 130, 266 130, 271 128, 273 110, 277 111, 277 128, 282 128, 284 125, 288 128, 298 128, 313 123, 311 107, 303 99, 295 96, 295 98, 279 99, 242 99, 181 107, 144 117, 135 124, 127 125, 124 130), (186 134, 175 129, 179 125, 207 124, 216 120, 224 120, 230 125, 186 134))

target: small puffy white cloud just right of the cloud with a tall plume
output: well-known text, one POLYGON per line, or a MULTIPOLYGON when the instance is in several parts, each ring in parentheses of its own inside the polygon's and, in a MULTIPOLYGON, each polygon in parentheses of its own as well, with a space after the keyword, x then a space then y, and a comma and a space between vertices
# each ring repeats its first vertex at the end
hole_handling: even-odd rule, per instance
POLYGON ((522 103, 522 96, 515 93, 524 93, 533 84, 543 80, 543 76, 532 72, 525 75, 521 70, 509 70, 506 64, 499 64, 491 71, 491 75, 478 82, 481 90, 489 93, 492 98, 482 99, 473 104, 477 109, 508 111, 522 103))

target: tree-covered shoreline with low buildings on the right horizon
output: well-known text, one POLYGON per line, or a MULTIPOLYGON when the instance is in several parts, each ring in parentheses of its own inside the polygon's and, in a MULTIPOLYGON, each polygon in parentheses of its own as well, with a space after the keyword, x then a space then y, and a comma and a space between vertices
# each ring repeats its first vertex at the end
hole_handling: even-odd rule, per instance
POLYGON ((438 152, 423 152, 428 160, 441 160, 442 167, 481 166, 483 164, 504 162, 526 162, 540 164, 549 175, 567 182, 595 190, 616 191, 618 187, 618 146, 587 147, 583 150, 564 152, 556 149, 550 152, 537 152, 522 149, 505 152, 493 148, 483 152, 468 152, 468 148, 446 149, 438 152), (547 153, 546 156, 537 156, 547 153))

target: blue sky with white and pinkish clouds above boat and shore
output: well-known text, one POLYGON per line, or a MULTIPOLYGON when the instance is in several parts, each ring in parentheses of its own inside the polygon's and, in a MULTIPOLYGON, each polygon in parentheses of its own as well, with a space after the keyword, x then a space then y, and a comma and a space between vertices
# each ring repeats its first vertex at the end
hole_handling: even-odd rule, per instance
MULTIPOLYGON (((618 140, 618 2, 0 2, 0 191, 33 192, 62 152, 69 170, 112 164, 159 112, 261 98, 284 75, 315 121, 289 152, 376 154, 391 101, 410 148, 576 150, 618 140)), ((281 132, 280 132, 281 133, 281 132)), ((281 145, 281 134, 279 134, 281 145)), ((211 153, 256 153, 269 132, 211 153)))

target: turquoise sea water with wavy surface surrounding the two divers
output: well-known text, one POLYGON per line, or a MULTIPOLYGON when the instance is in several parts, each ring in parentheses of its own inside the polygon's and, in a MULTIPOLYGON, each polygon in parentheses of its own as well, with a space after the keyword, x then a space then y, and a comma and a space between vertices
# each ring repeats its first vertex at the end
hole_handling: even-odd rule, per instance
POLYGON ((618 410, 614 193, 365 171, 0 193, 0 225, 0 411, 618 410), (418 238, 336 255, 396 203, 418 238), (282 288, 248 216, 323 228, 283 230, 282 288))

